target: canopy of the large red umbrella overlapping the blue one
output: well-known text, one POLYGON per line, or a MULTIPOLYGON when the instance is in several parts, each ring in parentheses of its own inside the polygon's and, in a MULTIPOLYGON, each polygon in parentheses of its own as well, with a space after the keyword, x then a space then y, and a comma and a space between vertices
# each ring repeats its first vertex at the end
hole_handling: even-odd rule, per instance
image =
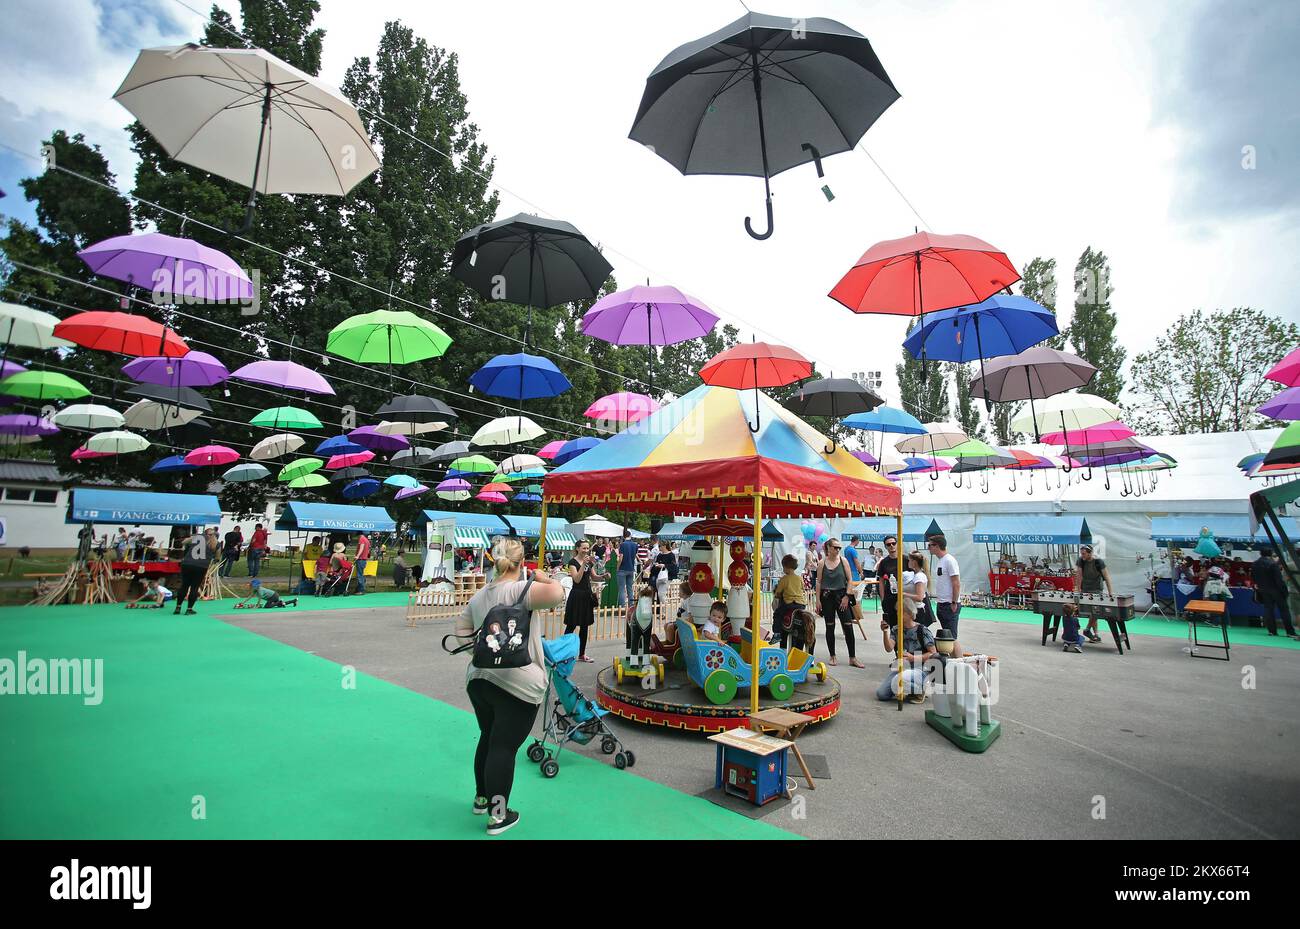
POLYGON ((1019 279, 983 239, 916 233, 874 244, 829 296, 854 313, 922 316, 980 303, 1019 279))

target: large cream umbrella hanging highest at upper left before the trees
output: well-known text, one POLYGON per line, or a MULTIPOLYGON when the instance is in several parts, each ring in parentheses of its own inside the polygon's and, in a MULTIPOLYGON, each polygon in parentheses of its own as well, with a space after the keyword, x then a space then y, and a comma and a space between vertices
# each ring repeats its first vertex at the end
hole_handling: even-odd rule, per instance
POLYGON ((239 231, 257 194, 342 196, 380 166, 356 108, 261 48, 146 48, 113 99, 177 161, 248 185, 239 231))

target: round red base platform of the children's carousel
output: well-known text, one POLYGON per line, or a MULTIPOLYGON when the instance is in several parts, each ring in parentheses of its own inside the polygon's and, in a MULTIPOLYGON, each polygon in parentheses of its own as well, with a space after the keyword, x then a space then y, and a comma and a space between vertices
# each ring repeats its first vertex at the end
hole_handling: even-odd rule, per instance
MULTIPOLYGON (((597 674, 597 702, 615 716, 633 722, 699 733, 740 729, 749 720, 748 690, 731 703, 714 704, 685 670, 671 667, 666 669, 663 686, 654 690, 642 690, 641 680, 636 677, 627 677, 619 683, 614 668, 603 668, 597 674)), ((840 683, 833 677, 827 677, 824 683, 809 680, 794 685, 794 695, 788 700, 774 700, 766 689, 759 689, 758 707, 780 707, 824 722, 840 712, 840 683)))

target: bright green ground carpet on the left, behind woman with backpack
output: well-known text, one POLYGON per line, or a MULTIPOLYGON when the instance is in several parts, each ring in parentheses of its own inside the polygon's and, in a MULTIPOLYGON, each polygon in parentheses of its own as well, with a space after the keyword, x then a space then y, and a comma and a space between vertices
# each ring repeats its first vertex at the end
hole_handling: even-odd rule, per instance
MULTIPOLYGON (((0 612, 0 657, 104 661, 100 706, 0 696, 0 838, 484 837, 471 713, 365 674, 346 690, 333 661, 212 618, 229 604, 0 612)), ((568 752, 551 781, 521 752, 511 806, 503 838, 790 838, 568 752)))

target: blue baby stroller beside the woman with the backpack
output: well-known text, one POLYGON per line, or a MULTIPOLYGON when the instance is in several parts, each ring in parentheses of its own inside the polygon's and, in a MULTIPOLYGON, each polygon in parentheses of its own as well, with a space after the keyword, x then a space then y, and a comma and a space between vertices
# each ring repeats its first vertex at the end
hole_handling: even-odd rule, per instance
POLYGON ((542 652, 546 660, 546 698, 542 700, 542 737, 528 746, 528 760, 542 765, 543 777, 555 777, 560 770, 556 760, 567 742, 586 744, 601 737, 601 751, 614 755, 615 768, 630 768, 636 755, 623 747, 623 742, 604 722, 607 709, 601 709, 589 700, 577 685, 569 680, 573 661, 577 659, 578 639, 569 633, 556 639, 542 639, 542 652), (551 699, 551 693, 555 696, 551 699), (546 742, 555 743, 552 752, 546 742))

